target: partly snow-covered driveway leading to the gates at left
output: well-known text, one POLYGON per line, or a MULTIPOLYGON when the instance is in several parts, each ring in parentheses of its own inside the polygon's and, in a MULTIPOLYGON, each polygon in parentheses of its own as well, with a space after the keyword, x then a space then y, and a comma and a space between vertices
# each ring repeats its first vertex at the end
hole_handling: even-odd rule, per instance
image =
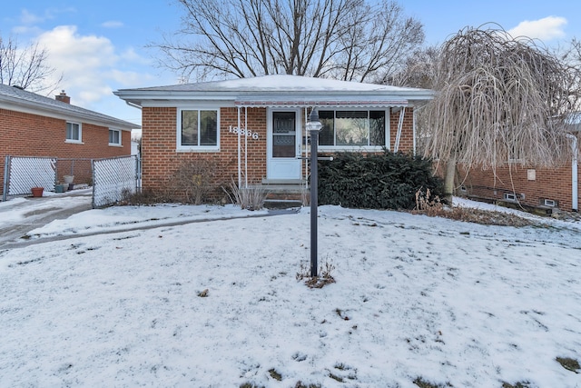
MULTIPOLYGON (((0 202, 0 248, 54 220, 90 210, 93 189, 80 189, 41 198, 24 197, 0 202)), ((22 241, 22 240, 21 240, 22 241)))

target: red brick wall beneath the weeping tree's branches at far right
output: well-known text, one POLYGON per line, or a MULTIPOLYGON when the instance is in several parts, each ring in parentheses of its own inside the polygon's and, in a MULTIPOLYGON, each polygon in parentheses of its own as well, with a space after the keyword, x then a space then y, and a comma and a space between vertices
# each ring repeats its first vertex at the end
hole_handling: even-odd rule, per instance
MULTIPOLYGON (((497 168, 497 178, 491 170, 482 171, 473 169, 466 177, 464 185, 468 194, 487 199, 504 198, 505 193, 524 194, 524 198, 518 196, 518 201, 529 206, 538 206, 544 199, 557 201, 562 210, 572 210, 572 169, 571 164, 565 164, 556 169, 540 169, 512 165, 510 168, 497 168), (535 170, 536 179, 529 181, 527 171, 535 170)), ((460 180, 466 176, 460 171, 460 180)), ((581 174, 577 177, 581 178, 581 174)), ((577 193, 579 189, 577 187, 577 193)), ((577 209, 578 210, 578 209, 577 209)))

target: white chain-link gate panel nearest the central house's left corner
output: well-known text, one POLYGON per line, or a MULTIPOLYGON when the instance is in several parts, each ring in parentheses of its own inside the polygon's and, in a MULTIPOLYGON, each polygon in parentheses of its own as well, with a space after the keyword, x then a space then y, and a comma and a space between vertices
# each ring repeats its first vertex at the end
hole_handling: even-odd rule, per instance
POLYGON ((93 161, 93 207, 103 207, 135 194, 139 188, 137 156, 93 161))

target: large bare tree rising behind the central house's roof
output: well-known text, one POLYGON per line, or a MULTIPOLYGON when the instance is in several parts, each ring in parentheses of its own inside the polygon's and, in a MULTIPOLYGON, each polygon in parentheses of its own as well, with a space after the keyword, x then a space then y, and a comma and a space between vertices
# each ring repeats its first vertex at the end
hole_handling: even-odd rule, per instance
POLYGON ((289 74, 380 80, 424 40, 390 0, 177 0, 161 65, 184 78, 289 74))

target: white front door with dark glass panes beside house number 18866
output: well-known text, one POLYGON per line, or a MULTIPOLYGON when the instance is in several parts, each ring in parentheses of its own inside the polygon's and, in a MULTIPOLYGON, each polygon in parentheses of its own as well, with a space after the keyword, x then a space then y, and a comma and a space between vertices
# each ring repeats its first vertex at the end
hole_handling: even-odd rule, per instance
POLYGON ((271 110, 267 127, 267 178, 300 179, 300 110, 271 110))

